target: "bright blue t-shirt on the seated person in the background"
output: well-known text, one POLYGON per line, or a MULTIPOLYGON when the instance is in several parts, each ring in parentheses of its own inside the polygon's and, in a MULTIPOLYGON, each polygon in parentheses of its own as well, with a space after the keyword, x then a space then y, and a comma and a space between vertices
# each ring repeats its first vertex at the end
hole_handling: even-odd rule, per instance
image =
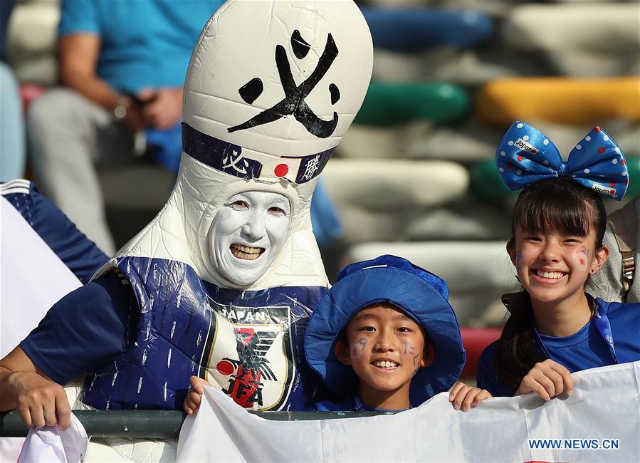
POLYGON ((64 0, 58 36, 100 36, 98 76, 121 92, 182 87, 201 29, 221 0, 64 0))

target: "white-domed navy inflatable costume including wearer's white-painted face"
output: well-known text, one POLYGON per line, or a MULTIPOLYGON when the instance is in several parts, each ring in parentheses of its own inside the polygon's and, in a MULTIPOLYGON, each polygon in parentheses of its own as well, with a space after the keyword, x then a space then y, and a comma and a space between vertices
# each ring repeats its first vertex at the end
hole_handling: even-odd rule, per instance
POLYGON ((317 398, 303 335, 328 281, 310 200, 372 56, 350 0, 231 0, 211 17, 187 71, 171 197, 97 274, 122 274, 140 315, 126 353, 85 380, 85 404, 176 409, 191 375, 250 409, 317 398))

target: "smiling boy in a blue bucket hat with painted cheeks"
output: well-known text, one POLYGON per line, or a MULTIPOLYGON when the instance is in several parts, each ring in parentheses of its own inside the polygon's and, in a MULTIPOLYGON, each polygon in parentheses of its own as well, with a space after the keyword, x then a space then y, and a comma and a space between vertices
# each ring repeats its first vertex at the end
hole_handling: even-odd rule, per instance
MULTIPOLYGON (((318 402, 318 411, 418 406, 449 390, 465 361, 446 282, 389 255, 340 271, 310 318, 305 354, 341 397, 318 402)), ((483 393, 459 384, 449 398, 454 407, 483 393)))

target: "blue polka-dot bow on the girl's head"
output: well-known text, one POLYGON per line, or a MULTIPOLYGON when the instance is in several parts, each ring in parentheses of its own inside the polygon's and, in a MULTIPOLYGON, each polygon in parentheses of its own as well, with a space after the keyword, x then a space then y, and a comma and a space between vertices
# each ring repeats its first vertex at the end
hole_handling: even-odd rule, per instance
POLYGON ((604 130, 595 127, 562 162, 557 147, 531 125, 515 122, 495 152, 500 178, 509 189, 520 189, 547 178, 571 177, 584 187, 622 199, 629 185, 626 161, 604 130))

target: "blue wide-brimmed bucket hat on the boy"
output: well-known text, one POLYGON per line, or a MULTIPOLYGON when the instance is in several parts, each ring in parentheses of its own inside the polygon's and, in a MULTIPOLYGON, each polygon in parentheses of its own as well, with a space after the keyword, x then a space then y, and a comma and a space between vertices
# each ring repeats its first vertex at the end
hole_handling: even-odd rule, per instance
POLYGON ((465 351, 446 282, 397 256, 379 256, 346 266, 315 306, 305 332, 310 367, 337 395, 355 394, 359 379, 334 353, 339 333, 362 308, 388 302, 418 323, 434 344, 435 360, 411 380, 409 400, 420 405, 456 382, 465 351))

